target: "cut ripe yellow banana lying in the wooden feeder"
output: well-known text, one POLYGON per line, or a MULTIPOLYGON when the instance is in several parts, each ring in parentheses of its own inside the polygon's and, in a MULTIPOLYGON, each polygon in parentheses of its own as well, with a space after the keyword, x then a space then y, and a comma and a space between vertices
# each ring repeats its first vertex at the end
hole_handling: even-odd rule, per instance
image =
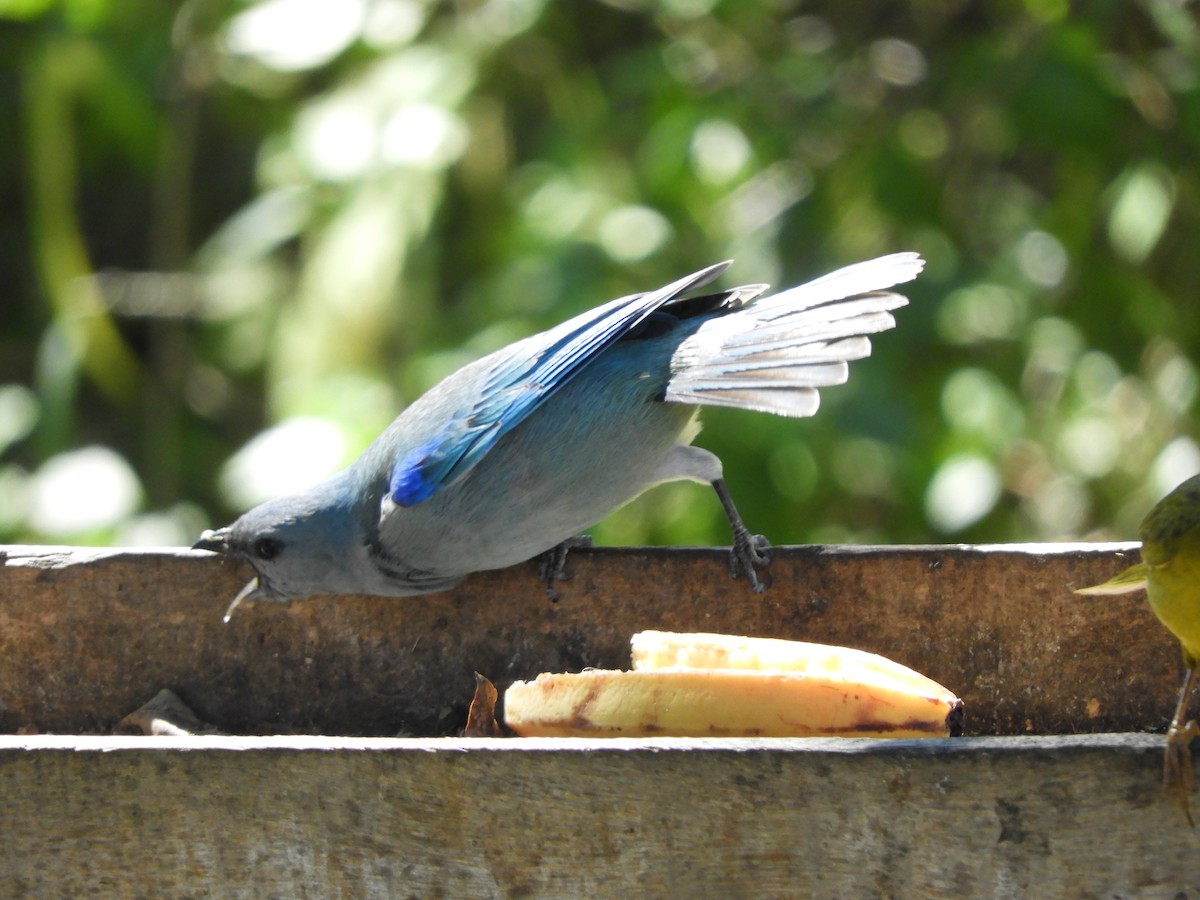
POLYGON ((516 682, 505 722, 533 737, 948 737, 962 702, 883 656, 793 641, 641 632, 635 671, 516 682), (701 665, 694 665, 701 664, 701 665))

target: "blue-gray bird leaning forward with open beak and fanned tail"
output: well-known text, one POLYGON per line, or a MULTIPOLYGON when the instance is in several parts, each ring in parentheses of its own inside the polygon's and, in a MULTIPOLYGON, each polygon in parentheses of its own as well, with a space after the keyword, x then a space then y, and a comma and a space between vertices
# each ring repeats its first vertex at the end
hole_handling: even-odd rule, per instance
MULTIPOLYGON (((408 596, 569 546, 654 485, 710 484, 733 529, 731 574, 766 589, 769 546, 742 522, 721 462, 692 446, 698 406, 812 415, 907 300, 916 253, 685 296, 719 263, 613 300, 458 370, 406 409, 349 468, 205 532, 257 577, 238 595, 408 596)), ((560 576, 551 566, 548 588, 560 576)), ((233 607, 230 607, 232 611, 233 607)))

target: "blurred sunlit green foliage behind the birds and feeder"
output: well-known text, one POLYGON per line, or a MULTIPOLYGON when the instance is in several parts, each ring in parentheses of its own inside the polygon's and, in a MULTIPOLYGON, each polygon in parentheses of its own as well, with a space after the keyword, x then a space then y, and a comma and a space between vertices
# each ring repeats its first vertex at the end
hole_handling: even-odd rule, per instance
POLYGON ((929 259, 816 418, 706 413, 775 542, 1130 539, 1200 470, 1190 5, 0 0, 0 541, 190 544, 730 257, 929 259))

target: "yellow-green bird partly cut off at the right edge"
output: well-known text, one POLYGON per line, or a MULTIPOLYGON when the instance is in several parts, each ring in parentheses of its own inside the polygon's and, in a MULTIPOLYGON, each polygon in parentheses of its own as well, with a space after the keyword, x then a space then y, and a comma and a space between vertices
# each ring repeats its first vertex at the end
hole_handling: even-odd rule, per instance
POLYGON ((1200 736, 1195 720, 1183 722, 1200 667, 1200 475, 1189 478, 1150 511, 1141 523, 1141 562, 1114 578, 1076 594, 1124 594, 1146 589, 1150 608, 1180 641, 1187 676, 1180 690, 1171 727, 1166 731, 1163 784, 1177 792, 1188 823, 1192 793, 1192 739, 1200 736))

